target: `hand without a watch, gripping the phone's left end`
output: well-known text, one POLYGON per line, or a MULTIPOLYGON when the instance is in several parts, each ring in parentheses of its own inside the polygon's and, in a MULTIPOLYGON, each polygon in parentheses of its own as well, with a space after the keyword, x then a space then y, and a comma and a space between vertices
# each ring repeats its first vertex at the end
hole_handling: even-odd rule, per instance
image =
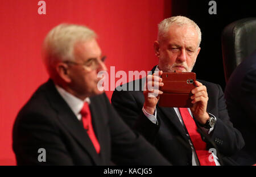
POLYGON ((162 78, 160 76, 163 74, 163 71, 155 72, 152 75, 147 75, 146 85, 144 91, 144 109, 147 113, 154 115, 156 104, 158 103, 159 96, 163 94, 159 90, 159 87, 163 86, 162 78))

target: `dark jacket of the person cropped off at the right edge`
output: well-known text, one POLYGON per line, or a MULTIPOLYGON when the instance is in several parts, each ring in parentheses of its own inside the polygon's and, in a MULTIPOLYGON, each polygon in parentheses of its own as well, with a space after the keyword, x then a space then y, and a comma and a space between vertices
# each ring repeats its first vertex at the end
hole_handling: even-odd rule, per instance
POLYGON ((242 165, 256 163, 256 50, 237 66, 225 89, 230 121, 245 139, 245 147, 236 155, 242 165))

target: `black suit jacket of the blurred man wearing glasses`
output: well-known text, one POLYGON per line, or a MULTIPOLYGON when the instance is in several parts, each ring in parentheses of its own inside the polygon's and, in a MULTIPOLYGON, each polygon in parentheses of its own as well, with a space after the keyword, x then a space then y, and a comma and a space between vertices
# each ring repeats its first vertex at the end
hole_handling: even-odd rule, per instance
POLYGON ((170 165, 115 112, 105 94, 90 98, 93 128, 101 146, 96 153, 82 123, 49 80, 16 117, 13 150, 18 165, 170 165), (46 149, 46 162, 38 149, 46 149))

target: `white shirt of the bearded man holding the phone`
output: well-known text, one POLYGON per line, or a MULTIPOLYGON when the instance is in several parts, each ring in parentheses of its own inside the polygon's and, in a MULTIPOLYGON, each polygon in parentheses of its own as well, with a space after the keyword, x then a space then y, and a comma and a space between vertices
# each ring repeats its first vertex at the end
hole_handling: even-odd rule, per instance
MULTIPOLYGON (((159 71, 158 66, 156 66, 155 71, 159 71)), ((180 115, 179 108, 174 108, 174 110, 175 110, 177 116, 179 117, 180 123, 181 123, 182 127, 184 128, 184 131, 187 132, 187 131, 185 130, 186 128, 185 128, 183 119, 182 119, 182 117, 181 117, 181 115, 180 115)), ((151 115, 150 113, 146 112, 146 110, 144 109, 144 107, 142 108, 142 112, 144 113, 144 115, 145 115, 152 123, 158 124, 158 121, 157 121, 157 119, 156 119, 156 109, 155 109, 155 115, 151 115)), ((189 112, 190 115, 192 116, 192 112, 191 112, 191 110, 190 110, 189 108, 188 108, 188 112, 189 112)), ((211 114, 211 115, 212 115, 212 114, 211 114)), ((213 116, 214 119, 216 120, 216 117, 215 117, 214 115, 212 115, 212 116, 213 116)), ((192 117, 193 117, 193 116, 192 116, 192 117)), ((214 127, 210 128, 209 130, 207 130, 207 129, 204 129, 204 130, 205 130, 206 133, 209 134, 210 132, 212 132, 213 128, 214 128, 214 127)), ((196 151, 195 151, 194 146, 193 146, 193 144, 192 144, 192 142, 191 142, 191 140, 190 140, 189 134, 187 134, 187 136, 188 136, 188 138, 189 138, 188 141, 189 141, 189 144, 191 145, 191 149, 192 149, 192 165, 193 165, 193 166, 199 166, 200 163, 199 163, 199 161, 198 161, 198 159, 197 159, 196 151)), ((214 155, 213 153, 212 153, 212 155, 213 155, 213 158, 214 158, 214 162, 216 163, 216 166, 220 166, 220 163, 218 162, 217 156, 214 155)))

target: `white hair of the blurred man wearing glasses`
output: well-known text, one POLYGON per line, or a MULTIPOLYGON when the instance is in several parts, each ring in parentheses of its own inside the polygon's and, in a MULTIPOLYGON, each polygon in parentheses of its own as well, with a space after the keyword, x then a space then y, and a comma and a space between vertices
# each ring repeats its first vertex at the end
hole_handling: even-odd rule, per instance
POLYGON ((59 61, 74 61, 74 45, 78 42, 96 38, 96 33, 85 26, 59 24, 48 32, 43 43, 43 59, 51 76, 59 61))

